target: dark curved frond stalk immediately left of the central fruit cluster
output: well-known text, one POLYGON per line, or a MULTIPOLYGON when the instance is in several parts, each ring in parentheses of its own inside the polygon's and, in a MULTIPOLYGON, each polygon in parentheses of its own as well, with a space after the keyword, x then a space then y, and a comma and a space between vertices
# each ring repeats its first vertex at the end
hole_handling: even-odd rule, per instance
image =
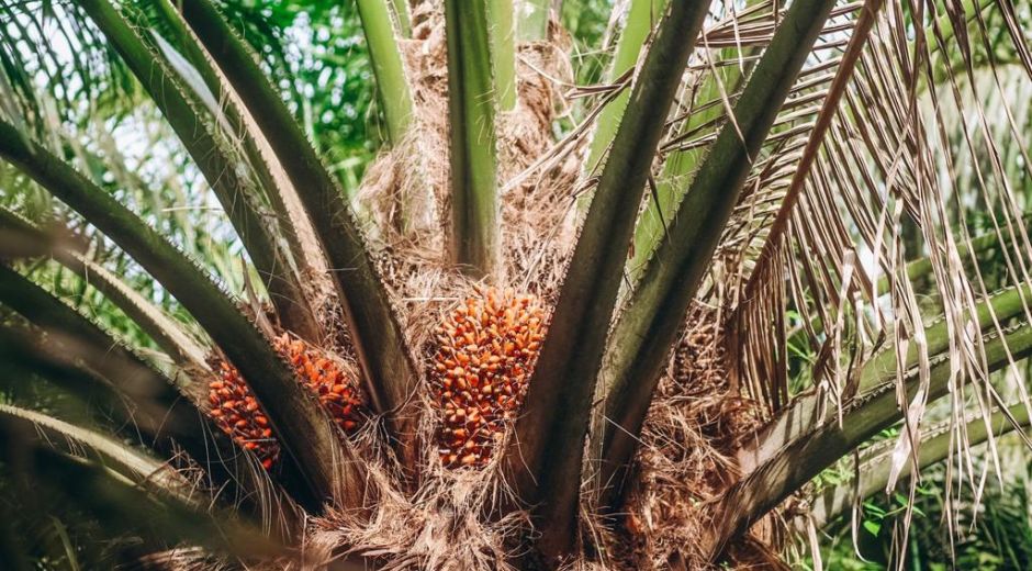
POLYGON ((416 458, 416 413, 411 406, 416 367, 343 191, 218 12, 204 0, 182 2, 181 11, 255 116, 296 189, 326 251, 372 406, 388 416, 402 457, 416 458))

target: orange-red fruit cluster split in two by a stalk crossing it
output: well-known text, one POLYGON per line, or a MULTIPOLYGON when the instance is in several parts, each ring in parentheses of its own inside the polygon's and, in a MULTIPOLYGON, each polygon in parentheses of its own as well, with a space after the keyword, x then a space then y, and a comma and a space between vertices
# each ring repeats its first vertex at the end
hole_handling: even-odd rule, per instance
MULTIPOLYGON (((352 434, 366 416, 364 403, 355 381, 340 365, 301 339, 282 334, 273 347, 294 369, 298 381, 318 398, 330 418, 345 434, 352 434)), ((280 445, 244 378, 224 360, 218 360, 218 379, 209 389, 211 416, 222 430, 251 450, 269 469, 279 458, 280 445)))

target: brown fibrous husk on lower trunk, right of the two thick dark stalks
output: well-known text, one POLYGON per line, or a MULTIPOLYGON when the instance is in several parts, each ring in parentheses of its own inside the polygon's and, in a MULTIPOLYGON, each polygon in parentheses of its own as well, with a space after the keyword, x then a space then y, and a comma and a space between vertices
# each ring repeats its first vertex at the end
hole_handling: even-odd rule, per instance
MULTIPOLYGON (((699 539, 711 529, 714 501, 740 475, 734 451, 760 425, 756 403, 728 382, 723 343, 718 313, 693 306, 646 418, 622 520, 602 534, 631 568, 709 567, 699 539)), ((776 568, 769 525, 730 546, 728 560, 776 568)))

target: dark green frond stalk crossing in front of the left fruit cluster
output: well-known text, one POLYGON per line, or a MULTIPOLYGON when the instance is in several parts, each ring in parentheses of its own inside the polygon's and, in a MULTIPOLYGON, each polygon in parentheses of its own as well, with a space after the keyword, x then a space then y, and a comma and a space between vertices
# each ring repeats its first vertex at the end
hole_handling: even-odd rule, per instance
POLYGON ((361 503, 361 479, 354 462, 344 463, 349 470, 343 475, 345 482, 339 480, 340 446, 328 418, 270 342, 205 272, 110 194, 2 122, 0 156, 114 239, 190 311, 247 379, 317 496, 361 503))

